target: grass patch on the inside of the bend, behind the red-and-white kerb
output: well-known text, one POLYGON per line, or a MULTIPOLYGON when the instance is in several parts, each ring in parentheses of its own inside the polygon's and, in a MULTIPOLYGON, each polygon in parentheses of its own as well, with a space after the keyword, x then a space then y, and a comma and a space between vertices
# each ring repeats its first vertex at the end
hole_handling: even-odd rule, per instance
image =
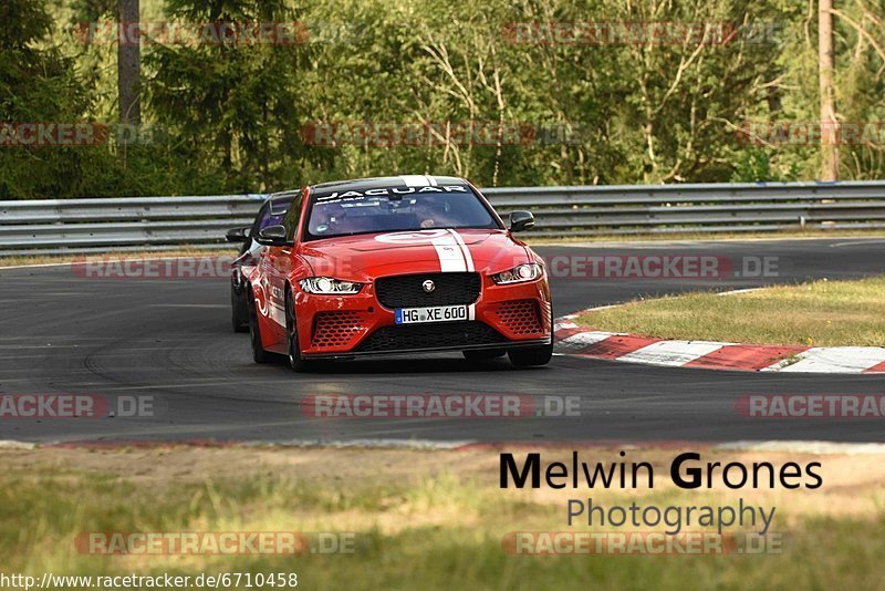
POLYGON ((778 345, 885 345, 885 277, 749 293, 689 293, 589 312, 575 322, 663 339, 778 345))

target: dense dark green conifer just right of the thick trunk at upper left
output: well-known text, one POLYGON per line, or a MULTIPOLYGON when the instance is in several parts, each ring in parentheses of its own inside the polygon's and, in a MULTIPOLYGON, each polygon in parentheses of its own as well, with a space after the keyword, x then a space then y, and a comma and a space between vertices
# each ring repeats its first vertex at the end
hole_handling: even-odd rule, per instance
POLYGON ((296 73, 304 49, 294 35, 282 44, 251 42, 250 35, 261 23, 293 23, 293 12, 282 0, 167 6, 200 37, 152 44, 145 61, 154 71, 147 91, 157 120, 183 139, 187 159, 214 190, 277 187, 302 155, 298 115, 305 90, 296 73))

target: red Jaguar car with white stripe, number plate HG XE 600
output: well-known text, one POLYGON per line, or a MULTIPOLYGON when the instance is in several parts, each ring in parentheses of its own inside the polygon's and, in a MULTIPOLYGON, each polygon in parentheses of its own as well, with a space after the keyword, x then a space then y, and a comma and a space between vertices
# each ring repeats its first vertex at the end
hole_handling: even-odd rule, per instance
POLYGON ((461 351, 544 365, 553 352, 543 261, 482 194, 455 177, 406 175, 304 187, 248 281, 254 361, 461 351))

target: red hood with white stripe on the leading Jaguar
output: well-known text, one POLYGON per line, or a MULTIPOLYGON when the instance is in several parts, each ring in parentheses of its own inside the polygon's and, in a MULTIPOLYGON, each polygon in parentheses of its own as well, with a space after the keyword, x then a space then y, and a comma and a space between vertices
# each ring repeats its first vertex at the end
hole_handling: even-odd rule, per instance
POLYGON ((531 260, 504 230, 415 230, 314 240, 300 255, 314 274, 366 280, 388 274, 496 273, 531 260))

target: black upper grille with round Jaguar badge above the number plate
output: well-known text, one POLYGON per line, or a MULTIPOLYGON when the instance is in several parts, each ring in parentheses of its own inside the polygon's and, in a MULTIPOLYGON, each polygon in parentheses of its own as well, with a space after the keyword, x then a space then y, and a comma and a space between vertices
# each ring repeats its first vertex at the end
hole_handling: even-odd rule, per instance
POLYGON ((479 273, 418 273, 382 277, 375 280, 375 293, 385 308, 470 304, 479 299, 482 280, 479 273), (421 287, 434 282, 434 291, 421 287))

